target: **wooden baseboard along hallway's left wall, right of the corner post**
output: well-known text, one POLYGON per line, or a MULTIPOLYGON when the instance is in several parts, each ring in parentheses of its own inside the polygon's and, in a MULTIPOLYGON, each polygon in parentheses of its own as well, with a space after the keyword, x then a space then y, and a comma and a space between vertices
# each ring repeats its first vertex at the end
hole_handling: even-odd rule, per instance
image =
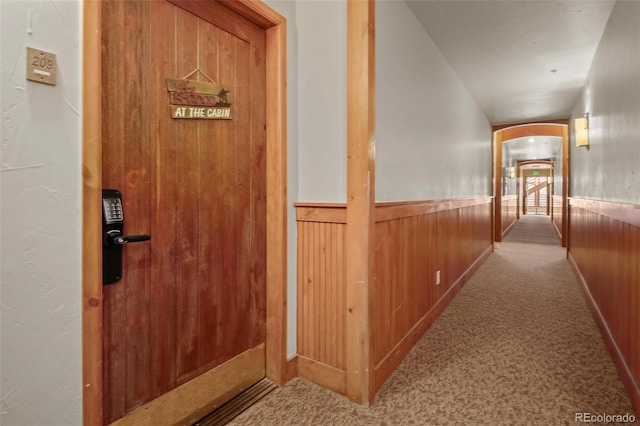
POLYGON ((372 394, 374 395, 383 385, 385 380, 395 371, 402 360, 409 354, 411 349, 420 340, 431 324, 440 316, 451 300, 460 291, 462 286, 469 281, 478 268, 493 252, 493 244, 488 246, 484 252, 473 262, 469 268, 458 278, 458 280, 440 297, 436 304, 411 328, 411 330, 398 342, 398 344, 382 359, 373 371, 371 383, 372 394))

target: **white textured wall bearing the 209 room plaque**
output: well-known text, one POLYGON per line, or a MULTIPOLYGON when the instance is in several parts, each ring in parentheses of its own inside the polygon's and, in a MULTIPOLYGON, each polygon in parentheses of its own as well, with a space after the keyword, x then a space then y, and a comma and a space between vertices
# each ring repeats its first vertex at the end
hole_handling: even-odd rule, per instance
POLYGON ((0 423, 80 425, 81 5, 0 8, 0 423), (26 80, 27 46, 57 54, 57 86, 26 80))

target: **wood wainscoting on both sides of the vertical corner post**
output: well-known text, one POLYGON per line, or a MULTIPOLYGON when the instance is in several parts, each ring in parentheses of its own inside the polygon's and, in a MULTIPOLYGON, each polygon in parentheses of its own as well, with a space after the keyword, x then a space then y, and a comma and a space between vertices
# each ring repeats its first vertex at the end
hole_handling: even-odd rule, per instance
MULTIPOLYGON (((379 203, 369 287, 373 396, 492 250, 492 197, 379 203), (436 284, 436 271, 441 282, 436 284)), ((298 375, 346 393, 346 206, 297 204, 298 375)))

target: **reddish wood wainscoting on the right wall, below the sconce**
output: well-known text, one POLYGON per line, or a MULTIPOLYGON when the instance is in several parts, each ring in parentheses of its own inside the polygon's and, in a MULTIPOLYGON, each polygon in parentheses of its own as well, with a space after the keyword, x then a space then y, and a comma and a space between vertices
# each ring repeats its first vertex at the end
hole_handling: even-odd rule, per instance
POLYGON ((640 412, 640 205, 571 198, 569 260, 640 412))

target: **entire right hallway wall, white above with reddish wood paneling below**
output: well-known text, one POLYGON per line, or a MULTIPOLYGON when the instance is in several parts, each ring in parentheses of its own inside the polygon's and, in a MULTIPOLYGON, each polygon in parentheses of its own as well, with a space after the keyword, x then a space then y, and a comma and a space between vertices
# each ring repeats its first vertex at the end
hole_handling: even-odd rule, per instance
POLYGON ((617 2, 572 118, 569 259, 640 412, 640 3, 617 2))

